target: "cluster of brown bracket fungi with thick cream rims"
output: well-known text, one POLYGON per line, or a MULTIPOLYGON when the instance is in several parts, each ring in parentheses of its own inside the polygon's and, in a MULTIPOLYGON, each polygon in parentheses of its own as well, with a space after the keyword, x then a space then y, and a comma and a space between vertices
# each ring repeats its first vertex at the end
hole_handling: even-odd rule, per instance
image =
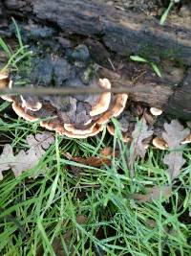
MULTIPOLYGON (((8 78, 4 75, 1 75, 0 79, 2 83, 3 81, 8 81, 8 78)), ((7 85, 11 87, 11 83, 12 82, 9 81, 7 85)), ((107 79, 99 79, 98 86, 110 89, 111 83, 107 79)), ((53 98, 59 100, 60 97, 53 98)), ((117 117, 123 111, 128 96, 127 94, 112 96, 110 92, 103 92, 100 96, 94 96, 95 104, 90 109, 89 119, 82 120, 82 122, 81 120, 77 122, 79 118, 74 120, 73 116, 71 116, 70 119, 70 113, 73 114, 74 110, 77 111, 78 106, 73 97, 68 97, 70 104, 74 106, 74 108, 69 111, 60 111, 60 109, 57 109, 56 105, 49 99, 50 97, 43 97, 44 99, 41 99, 42 101, 39 101, 39 99, 35 101, 35 97, 24 96, 6 95, 1 96, 1 98, 12 102, 12 108, 16 114, 27 121, 32 122, 42 119, 42 121, 40 121, 41 127, 55 130, 60 135, 71 138, 87 138, 96 135, 112 117, 117 117)), ((91 104, 93 103, 91 102, 91 104)), ((78 108, 80 108, 79 115, 86 116, 86 105, 84 105, 84 109, 81 109, 80 106, 78 106, 78 108)))

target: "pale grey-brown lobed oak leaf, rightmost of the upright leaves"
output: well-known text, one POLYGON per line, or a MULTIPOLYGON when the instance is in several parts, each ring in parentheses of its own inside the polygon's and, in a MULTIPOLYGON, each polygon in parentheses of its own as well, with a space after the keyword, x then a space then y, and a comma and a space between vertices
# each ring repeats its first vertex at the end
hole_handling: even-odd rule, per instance
POLYGON ((178 177, 180 169, 185 163, 182 151, 180 151, 183 148, 181 142, 188 136, 190 129, 183 128, 178 120, 172 120, 170 124, 165 123, 164 129, 162 137, 171 152, 164 156, 163 162, 168 166, 167 172, 173 180, 178 177))

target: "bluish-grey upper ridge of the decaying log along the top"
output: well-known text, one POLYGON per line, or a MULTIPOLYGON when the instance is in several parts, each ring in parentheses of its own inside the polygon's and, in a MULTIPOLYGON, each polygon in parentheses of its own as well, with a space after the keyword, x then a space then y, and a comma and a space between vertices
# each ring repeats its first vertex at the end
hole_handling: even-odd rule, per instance
POLYGON ((51 22, 65 34, 95 36, 111 50, 127 56, 174 58, 191 64, 191 32, 178 26, 101 5, 96 0, 5 0, 11 13, 51 22))

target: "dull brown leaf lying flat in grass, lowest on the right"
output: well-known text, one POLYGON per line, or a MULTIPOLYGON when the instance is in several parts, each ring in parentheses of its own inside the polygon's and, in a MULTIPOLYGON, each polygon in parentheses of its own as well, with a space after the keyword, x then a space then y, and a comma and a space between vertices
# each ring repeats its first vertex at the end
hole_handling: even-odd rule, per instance
POLYGON ((146 194, 132 194, 130 198, 136 199, 138 202, 147 202, 152 200, 159 200, 162 198, 170 198, 172 194, 172 188, 170 186, 154 186, 146 189, 146 194))

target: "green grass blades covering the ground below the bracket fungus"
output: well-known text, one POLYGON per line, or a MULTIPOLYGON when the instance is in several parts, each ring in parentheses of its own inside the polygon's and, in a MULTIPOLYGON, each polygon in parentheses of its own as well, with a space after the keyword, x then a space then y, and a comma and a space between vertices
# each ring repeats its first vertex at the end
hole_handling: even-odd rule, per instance
MULTIPOLYGON (((42 130, 36 124, 21 119, 0 120, 0 134, 14 151, 26 149, 26 136, 37 132, 42 130)), ((129 195, 141 193, 145 186, 168 184, 163 153, 151 147, 145 161, 135 163, 136 175, 131 178, 126 161, 129 149, 117 136, 110 140, 55 138, 36 168, 17 178, 6 172, 0 182, 1 255, 37 255, 39 251, 59 255, 55 242, 65 255, 189 255, 189 147, 172 196, 138 203, 129 195), (98 144, 100 149, 120 149, 111 166, 87 167, 63 155, 94 155, 98 144), (46 165, 45 176, 29 178, 46 165)))

